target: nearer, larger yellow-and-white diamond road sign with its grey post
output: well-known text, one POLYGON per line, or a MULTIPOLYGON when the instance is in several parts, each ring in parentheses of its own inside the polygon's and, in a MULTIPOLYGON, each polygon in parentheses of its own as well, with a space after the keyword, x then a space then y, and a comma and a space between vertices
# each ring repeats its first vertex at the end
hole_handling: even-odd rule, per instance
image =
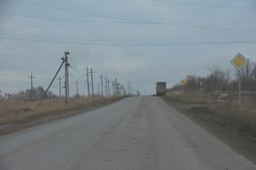
POLYGON ((241 53, 238 53, 235 58, 233 58, 230 63, 235 66, 238 70, 238 100, 239 100, 239 109, 242 108, 241 104, 241 69, 246 66, 248 59, 244 58, 241 53))

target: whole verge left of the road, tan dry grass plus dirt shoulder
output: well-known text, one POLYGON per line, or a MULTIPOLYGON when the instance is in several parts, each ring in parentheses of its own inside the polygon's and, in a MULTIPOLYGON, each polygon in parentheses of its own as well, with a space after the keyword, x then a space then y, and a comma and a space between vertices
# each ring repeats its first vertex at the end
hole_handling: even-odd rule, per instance
POLYGON ((22 101, 15 97, 0 100, 0 135, 7 135, 52 120, 59 120, 81 112, 112 104, 123 97, 73 97, 65 100, 22 101))

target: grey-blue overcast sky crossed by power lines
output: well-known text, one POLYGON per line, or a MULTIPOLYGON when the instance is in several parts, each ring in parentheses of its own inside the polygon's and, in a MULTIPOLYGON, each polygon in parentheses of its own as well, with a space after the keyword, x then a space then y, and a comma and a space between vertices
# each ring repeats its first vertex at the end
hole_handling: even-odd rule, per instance
MULTIPOLYGON (((238 52, 256 62, 255 0, 0 0, 0 23, 1 95, 30 89, 31 73, 47 89, 66 50, 70 96, 75 81, 87 95, 86 66, 95 92, 102 74, 151 95, 157 81, 235 72, 238 52)), ((50 90, 58 95, 58 80, 50 90)))

